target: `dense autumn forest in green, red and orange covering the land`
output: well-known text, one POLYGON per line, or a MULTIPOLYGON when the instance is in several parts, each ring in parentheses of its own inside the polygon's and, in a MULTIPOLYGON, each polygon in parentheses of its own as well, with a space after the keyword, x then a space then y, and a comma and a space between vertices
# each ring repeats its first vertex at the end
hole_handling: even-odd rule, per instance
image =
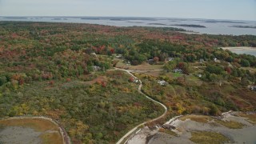
POLYGON ((178 31, 184 30, 0 22, 0 117, 45 115, 60 122, 74 143, 117 142, 163 112, 138 93, 128 74, 110 71, 117 54, 132 66, 150 59, 162 65, 158 76, 136 75, 146 94, 168 106, 166 119, 256 110, 256 93, 248 88, 256 85, 256 58, 219 48, 256 47, 256 36, 178 31))

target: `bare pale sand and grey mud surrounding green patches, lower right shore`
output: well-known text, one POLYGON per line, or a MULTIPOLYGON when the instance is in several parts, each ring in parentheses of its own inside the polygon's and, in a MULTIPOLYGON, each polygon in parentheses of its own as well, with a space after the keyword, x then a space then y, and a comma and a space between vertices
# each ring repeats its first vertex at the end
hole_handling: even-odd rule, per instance
POLYGON ((225 135, 230 138, 230 142, 234 143, 256 143, 256 126, 246 121, 246 118, 234 116, 236 112, 230 112, 222 115, 222 121, 240 122, 245 126, 242 129, 230 129, 222 126, 214 120, 210 122, 195 122, 190 119, 182 121, 179 117, 170 119, 165 125, 175 126, 172 130, 178 137, 158 132, 157 130, 142 129, 138 134, 127 142, 129 144, 165 144, 165 143, 194 143, 190 141, 191 131, 213 131, 225 135), (147 139, 147 141, 146 141, 147 139))

